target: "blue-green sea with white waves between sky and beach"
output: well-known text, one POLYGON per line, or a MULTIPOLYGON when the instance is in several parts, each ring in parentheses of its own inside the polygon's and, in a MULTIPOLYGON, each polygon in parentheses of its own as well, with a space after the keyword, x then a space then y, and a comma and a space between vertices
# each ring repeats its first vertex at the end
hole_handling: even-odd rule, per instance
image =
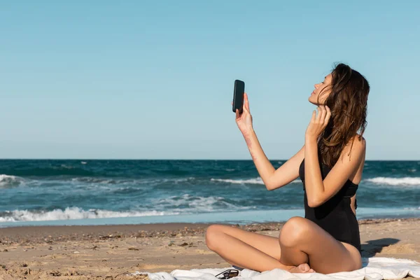
MULTIPOLYGON (((0 193, 1 228, 304 216, 302 181, 269 191, 251 160, 0 160, 0 193)), ((356 198, 358 219, 420 217, 420 161, 366 161, 356 198)))

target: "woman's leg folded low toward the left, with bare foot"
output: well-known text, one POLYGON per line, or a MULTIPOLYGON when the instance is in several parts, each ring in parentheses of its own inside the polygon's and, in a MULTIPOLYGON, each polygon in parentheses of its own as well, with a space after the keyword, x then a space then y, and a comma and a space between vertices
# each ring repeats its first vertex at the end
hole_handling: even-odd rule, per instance
POLYGON ((260 272, 274 268, 292 269, 293 272, 313 272, 309 265, 300 267, 283 265, 279 261, 281 248, 276 237, 246 232, 227 225, 211 225, 207 229, 206 243, 211 251, 215 251, 227 262, 239 267, 260 272))

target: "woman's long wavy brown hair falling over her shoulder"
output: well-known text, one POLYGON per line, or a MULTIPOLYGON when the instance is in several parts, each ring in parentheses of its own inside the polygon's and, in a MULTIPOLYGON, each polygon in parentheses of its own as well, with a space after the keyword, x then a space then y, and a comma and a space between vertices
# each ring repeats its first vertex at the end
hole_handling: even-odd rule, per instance
MULTIPOLYGON (((331 116, 325 130, 318 137, 318 151, 322 155, 323 163, 332 168, 343 149, 353 139, 351 151, 358 131, 358 140, 363 137, 367 125, 367 96, 370 86, 358 71, 340 63, 332 70, 329 88, 331 92, 325 99, 325 105, 330 108, 331 116)), ((322 93, 318 95, 318 104, 322 93)))

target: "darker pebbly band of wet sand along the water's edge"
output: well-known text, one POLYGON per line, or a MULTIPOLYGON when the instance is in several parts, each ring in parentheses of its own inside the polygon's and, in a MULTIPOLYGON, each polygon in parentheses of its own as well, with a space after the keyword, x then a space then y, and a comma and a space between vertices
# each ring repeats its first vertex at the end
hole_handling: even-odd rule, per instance
MULTIPOLYGON (((366 218, 358 220, 360 225, 407 221, 420 223, 420 218, 366 218)), ((253 222, 246 224, 218 223, 230 225, 251 232, 280 230, 284 222, 253 222)), ((0 244, 10 242, 30 243, 66 240, 93 240, 127 237, 172 237, 176 235, 204 235, 206 228, 214 223, 146 223, 139 225, 18 225, 0 228, 0 244), (48 234, 48 235, 47 235, 48 234), (46 235, 46 236, 45 236, 46 235)))

